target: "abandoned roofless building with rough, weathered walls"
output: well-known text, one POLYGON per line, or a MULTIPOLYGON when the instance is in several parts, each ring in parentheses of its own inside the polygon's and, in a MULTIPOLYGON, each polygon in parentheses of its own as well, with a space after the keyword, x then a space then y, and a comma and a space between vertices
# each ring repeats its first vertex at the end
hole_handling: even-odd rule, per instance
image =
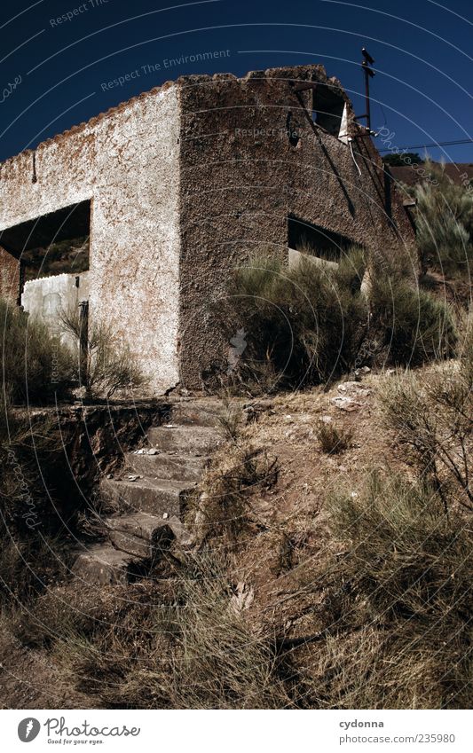
POLYGON ((0 165, 0 294, 48 321, 88 302, 156 394, 200 388, 223 357, 209 298, 233 269, 267 249, 289 259, 303 241, 333 261, 351 243, 396 254, 413 242, 367 129, 321 66, 185 76, 0 165), (25 282, 32 252, 84 238, 81 271, 25 282))

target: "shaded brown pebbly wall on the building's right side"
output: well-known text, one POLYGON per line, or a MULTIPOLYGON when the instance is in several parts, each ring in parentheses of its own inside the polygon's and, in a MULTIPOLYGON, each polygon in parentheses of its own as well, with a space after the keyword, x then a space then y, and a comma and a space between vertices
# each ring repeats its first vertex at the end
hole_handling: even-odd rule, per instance
POLYGON ((228 349, 209 313, 209 295, 225 296, 229 274, 257 251, 271 249, 287 260, 289 214, 386 254, 412 243, 394 199, 398 228, 386 215, 381 160, 369 138, 351 127, 358 134, 359 176, 350 146, 313 125, 311 91, 300 93, 301 104, 290 79, 327 76, 323 67, 308 66, 240 80, 180 80, 181 378, 187 387, 199 387, 201 370, 228 349))

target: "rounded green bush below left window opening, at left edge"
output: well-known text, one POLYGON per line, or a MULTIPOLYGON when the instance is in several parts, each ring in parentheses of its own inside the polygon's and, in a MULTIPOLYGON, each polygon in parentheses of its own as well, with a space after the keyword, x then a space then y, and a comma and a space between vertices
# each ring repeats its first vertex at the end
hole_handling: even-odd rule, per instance
POLYGON ((69 351, 43 324, 0 300, 4 393, 13 403, 45 404, 67 394, 69 351))

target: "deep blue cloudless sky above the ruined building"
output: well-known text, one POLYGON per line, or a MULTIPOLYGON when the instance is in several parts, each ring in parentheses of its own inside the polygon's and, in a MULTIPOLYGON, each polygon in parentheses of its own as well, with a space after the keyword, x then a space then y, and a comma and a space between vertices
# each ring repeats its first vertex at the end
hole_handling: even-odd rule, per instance
MULTIPOLYGON (((0 95, 0 159, 192 73, 322 62, 361 114, 363 45, 377 71, 374 129, 386 122, 398 146, 473 134, 471 0, 2 0, 0 34, 0 90, 21 78, 10 96, 0 95), (51 24, 81 6, 73 20, 51 24), (165 59, 215 50, 230 54, 164 68, 165 59), (161 70, 143 74, 142 66, 156 63, 161 70), (136 69, 139 77, 102 90, 136 69)), ((434 159, 473 162, 473 144, 429 151, 434 159)))

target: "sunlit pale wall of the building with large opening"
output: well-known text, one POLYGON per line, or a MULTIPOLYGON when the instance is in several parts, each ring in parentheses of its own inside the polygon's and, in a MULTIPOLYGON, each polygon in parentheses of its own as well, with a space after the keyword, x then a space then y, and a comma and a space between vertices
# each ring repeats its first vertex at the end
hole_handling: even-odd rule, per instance
POLYGON ((91 200, 90 321, 155 393, 178 378, 177 88, 164 85, 0 165, 0 230, 91 200))

